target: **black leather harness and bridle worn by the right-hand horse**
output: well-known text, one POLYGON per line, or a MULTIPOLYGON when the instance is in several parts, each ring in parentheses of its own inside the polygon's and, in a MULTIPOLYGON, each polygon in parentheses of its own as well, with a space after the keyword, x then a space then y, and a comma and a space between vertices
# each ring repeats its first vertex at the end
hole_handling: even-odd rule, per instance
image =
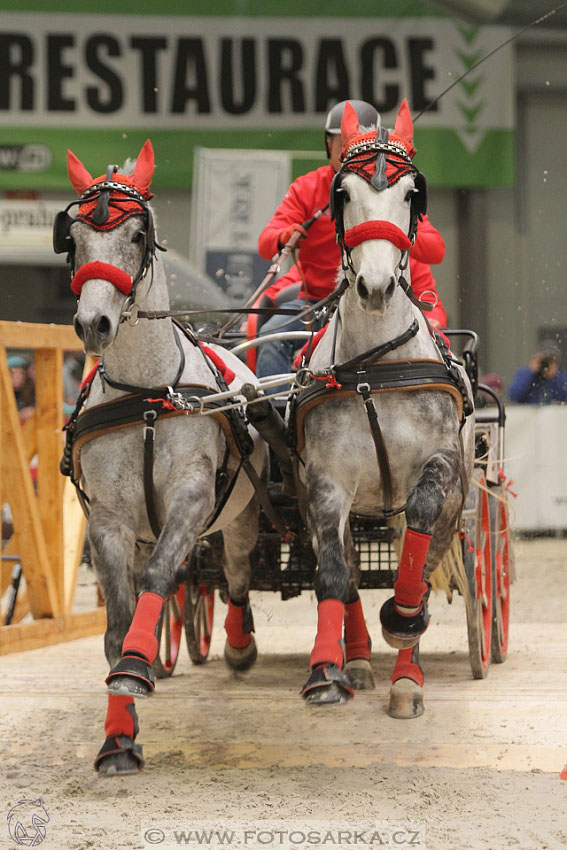
MULTIPOLYGON (((413 147, 408 148, 406 143, 390 136, 388 130, 383 128, 355 137, 343 153, 341 170, 333 178, 331 217, 335 219, 337 242, 341 248, 342 266, 345 272, 343 291, 349 285, 346 272, 350 271, 356 275, 351 249, 368 239, 387 239, 396 245, 402 253, 398 283, 410 297, 410 300, 416 303, 421 310, 427 310, 432 309, 433 305, 418 301, 403 277, 409 250, 415 239, 418 217, 425 213, 427 209, 425 178, 411 162, 414 154, 413 147), (341 182, 344 175, 349 172, 362 177, 376 191, 392 186, 404 174, 411 173, 414 175, 416 191, 411 201, 408 234, 388 221, 363 222, 345 231, 343 220, 344 190, 341 187, 341 182)), ((417 319, 414 319, 409 328, 395 339, 377 345, 342 364, 335 364, 339 319, 340 313, 337 315, 334 326, 331 352, 332 365, 319 371, 304 367, 298 372, 297 382, 301 388, 292 397, 290 403, 290 444, 298 457, 298 453, 305 445, 305 416, 314 407, 338 398, 360 396, 368 416, 380 469, 384 492, 383 516, 394 516, 401 513, 405 509, 405 505, 398 508, 393 506, 392 475, 388 450, 372 396, 378 393, 423 390, 448 393, 457 406, 460 430, 462 430, 466 417, 474 411, 474 404, 457 368, 458 361, 453 358, 443 337, 429 323, 427 323, 429 331, 437 345, 440 360, 404 359, 378 362, 385 354, 400 348, 418 333, 419 323, 417 319), (302 384, 303 386, 301 386, 302 384)))

